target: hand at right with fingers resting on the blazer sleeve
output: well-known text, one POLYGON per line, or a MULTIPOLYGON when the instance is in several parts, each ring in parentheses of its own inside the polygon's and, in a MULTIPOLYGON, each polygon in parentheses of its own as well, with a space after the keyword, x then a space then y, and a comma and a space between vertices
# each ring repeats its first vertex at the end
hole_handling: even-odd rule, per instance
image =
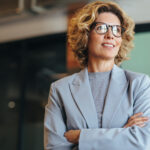
POLYGON ((127 128, 127 127, 132 127, 133 125, 137 125, 139 127, 144 127, 145 126, 145 122, 147 122, 149 120, 148 117, 142 117, 143 113, 140 112, 140 113, 137 113, 133 116, 131 116, 127 122, 127 124, 124 126, 124 128, 127 128))

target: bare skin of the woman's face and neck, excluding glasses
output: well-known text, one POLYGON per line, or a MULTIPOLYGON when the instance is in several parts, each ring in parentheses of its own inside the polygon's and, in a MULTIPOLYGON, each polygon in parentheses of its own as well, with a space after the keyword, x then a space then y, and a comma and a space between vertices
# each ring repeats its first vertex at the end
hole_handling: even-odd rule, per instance
MULTIPOLYGON (((104 22, 109 25, 120 25, 119 18, 110 12, 101 13, 95 21, 104 22)), ((95 29, 91 30, 88 42, 88 71, 106 72, 111 70, 121 42, 122 37, 115 37, 110 28, 103 35, 97 34, 95 29), (113 44, 114 47, 105 46, 104 43, 113 44)))

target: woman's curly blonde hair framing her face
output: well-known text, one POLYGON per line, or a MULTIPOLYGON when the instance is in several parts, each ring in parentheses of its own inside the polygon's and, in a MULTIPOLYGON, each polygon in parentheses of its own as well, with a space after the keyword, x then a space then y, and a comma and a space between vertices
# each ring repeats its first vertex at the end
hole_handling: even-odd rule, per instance
POLYGON ((68 43, 81 67, 86 67, 88 64, 87 45, 90 27, 102 12, 115 14, 119 18, 121 26, 125 28, 121 47, 118 55, 115 57, 115 64, 119 66, 122 61, 128 60, 127 54, 134 47, 135 24, 116 3, 103 1, 89 3, 75 13, 68 27, 68 43))

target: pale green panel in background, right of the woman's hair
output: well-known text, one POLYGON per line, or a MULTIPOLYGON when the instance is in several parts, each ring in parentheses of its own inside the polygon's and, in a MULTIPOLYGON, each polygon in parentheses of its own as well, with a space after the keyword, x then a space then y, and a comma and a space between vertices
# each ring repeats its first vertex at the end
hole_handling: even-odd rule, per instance
POLYGON ((146 73, 150 76, 150 32, 135 34, 135 48, 131 51, 130 60, 122 67, 135 72, 146 73))

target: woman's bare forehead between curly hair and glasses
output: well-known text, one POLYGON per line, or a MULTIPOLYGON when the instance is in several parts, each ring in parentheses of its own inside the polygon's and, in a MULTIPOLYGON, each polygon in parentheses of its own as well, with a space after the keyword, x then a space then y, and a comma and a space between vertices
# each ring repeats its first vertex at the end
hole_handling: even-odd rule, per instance
POLYGON ((103 12, 98 15, 95 22, 104 22, 110 25, 120 25, 119 18, 111 12, 103 12))

